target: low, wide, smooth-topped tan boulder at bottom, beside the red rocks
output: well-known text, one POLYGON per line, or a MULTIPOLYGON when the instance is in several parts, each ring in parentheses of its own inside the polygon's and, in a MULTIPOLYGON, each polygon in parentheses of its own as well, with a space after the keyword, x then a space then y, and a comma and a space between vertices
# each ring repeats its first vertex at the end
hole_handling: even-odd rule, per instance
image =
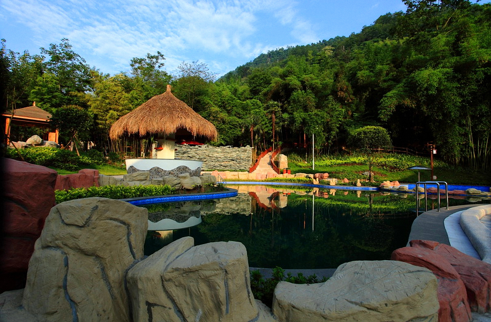
POLYGON ((438 319, 437 282, 428 269, 396 261, 344 263, 325 283, 280 282, 273 314, 280 322, 438 319))

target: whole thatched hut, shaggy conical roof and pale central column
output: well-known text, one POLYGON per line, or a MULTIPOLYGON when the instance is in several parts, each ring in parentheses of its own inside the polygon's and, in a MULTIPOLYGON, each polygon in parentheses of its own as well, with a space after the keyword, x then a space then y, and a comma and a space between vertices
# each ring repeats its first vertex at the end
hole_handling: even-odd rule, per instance
POLYGON ((157 137, 152 148, 159 159, 174 158, 174 142, 177 140, 216 140, 215 126, 194 112, 186 103, 170 92, 157 95, 141 104, 134 111, 119 118, 109 131, 111 140, 137 135, 140 138, 157 137))

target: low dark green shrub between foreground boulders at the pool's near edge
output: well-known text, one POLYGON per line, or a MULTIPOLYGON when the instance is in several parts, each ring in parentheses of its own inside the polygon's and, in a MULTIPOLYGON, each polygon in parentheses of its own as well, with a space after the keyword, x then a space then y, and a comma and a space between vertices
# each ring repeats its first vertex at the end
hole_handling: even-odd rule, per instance
POLYGON ((298 273, 297 276, 292 276, 288 273, 285 276, 285 270, 281 267, 273 268, 273 277, 263 278, 259 270, 253 270, 250 272, 250 288, 255 299, 262 301, 269 307, 273 305, 273 293, 276 285, 281 282, 290 282, 294 284, 313 284, 323 283, 328 280, 327 277, 319 278, 314 274, 310 276, 303 276, 302 273, 298 273))

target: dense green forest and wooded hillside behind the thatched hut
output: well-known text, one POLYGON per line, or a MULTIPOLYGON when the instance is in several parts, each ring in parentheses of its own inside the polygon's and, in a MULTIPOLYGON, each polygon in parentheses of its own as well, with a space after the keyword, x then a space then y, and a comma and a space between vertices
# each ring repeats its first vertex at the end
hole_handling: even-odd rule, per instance
POLYGON ((160 53, 135 58, 130 74, 111 77, 93 70, 87 76, 67 43, 44 50, 49 60, 4 47, 3 97, 22 106, 40 100, 52 110, 77 105, 94 117, 92 139, 103 146, 115 119, 170 81, 178 98, 215 124, 219 145, 265 149, 274 128, 283 146, 310 145, 314 134, 318 153, 341 152, 350 150, 356 128, 378 125, 394 146, 422 150, 434 142, 447 161, 489 168, 491 5, 404 2, 405 13, 383 15, 359 33, 261 54, 217 81, 197 62, 171 77, 160 53), (70 70, 85 78, 60 87, 70 70))

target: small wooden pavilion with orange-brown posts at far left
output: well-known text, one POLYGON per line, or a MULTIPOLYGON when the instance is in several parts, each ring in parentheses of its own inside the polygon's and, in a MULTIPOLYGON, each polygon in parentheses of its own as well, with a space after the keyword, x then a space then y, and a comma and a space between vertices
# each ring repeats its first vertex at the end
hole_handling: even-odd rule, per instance
POLYGON ((45 128, 46 132, 43 134, 42 139, 58 143, 58 130, 56 129, 53 131, 49 123, 51 114, 37 107, 36 102, 33 102, 32 106, 15 109, 13 111, 13 115, 11 111, 8 111, 1 116, 4 118, 3 124, 5 124, 4 133, 7 140, 7 145, 10 144, 9 138, 12 124, 18 126, 45 128))

